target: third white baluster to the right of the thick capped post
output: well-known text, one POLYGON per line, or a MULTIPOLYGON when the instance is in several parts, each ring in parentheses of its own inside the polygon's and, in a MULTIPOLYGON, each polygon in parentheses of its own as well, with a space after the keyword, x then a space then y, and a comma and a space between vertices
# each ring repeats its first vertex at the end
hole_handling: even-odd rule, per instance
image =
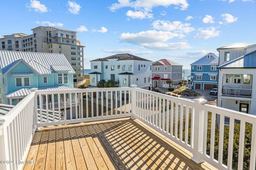
POLYGON ((228 169, 232 169, 233 162, 233 143, 234 143, 234 118, 229 117, 229 135, 228 135, 228 169))

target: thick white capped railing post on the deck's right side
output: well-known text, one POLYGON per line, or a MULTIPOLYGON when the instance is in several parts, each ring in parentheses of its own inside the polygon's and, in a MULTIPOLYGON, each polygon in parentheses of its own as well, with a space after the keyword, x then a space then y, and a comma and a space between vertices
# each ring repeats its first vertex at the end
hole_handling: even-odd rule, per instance
POLYGON ((195 102, 195 112, 194 119, 192 120, 194 123, 194 137, 193 137, 193 157, 192 160, 199 164, 204 162, 201 159, 201 155, 203 153, 203 134, 204 134, 204 111, 202 106, 206 103, 207 100, 199 98, 193 99, 195 102))

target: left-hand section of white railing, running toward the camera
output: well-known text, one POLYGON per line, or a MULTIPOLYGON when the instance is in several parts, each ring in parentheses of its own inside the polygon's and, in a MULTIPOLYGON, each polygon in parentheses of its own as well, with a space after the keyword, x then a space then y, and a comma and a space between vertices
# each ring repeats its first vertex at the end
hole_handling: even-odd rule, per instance
POLYGON ((21 169, 35 129, 35 94, 31 92, 0 122, 0 169, 21 169), (2 124, 2 125, 1 125, 2 124))

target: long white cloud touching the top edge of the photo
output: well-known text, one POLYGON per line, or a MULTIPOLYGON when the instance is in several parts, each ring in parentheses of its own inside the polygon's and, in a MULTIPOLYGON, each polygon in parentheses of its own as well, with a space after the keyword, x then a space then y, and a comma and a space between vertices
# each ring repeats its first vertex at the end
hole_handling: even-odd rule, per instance
POLYGON ((145 10, 151 10, 153 7, 170 5, 179 6, 181 10, 186 10, 189 6, 187 0, 118 0, 118 3, 111 4, 110 11, 116 11, 122 7, 132 7, 134 9, 143 8, 145 10))

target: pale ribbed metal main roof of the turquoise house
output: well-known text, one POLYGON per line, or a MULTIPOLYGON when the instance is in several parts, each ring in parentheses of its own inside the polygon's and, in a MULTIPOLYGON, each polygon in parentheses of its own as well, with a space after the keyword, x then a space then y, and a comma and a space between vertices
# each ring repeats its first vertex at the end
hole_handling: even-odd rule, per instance
POLYGON ((3 73, 11 70, 19 62, 26 63, 39 74, 54 73, 54 70, 51 70, 53 65, 65 67, 69 73, 75 73, 63 54, 0 50, 0 66, 3 73))

